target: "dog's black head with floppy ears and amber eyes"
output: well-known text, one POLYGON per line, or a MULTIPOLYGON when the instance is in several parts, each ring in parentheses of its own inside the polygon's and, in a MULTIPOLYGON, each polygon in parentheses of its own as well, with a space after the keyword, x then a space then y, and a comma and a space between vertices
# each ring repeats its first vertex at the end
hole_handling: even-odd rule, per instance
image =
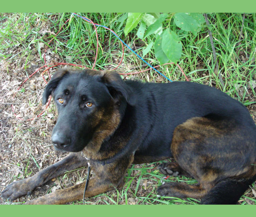
POLYGON ((120 123, 119 105, 134 105, 136 97, 113 71, 57 71, 43 92, 43 104, 52 95, 58 120, 51 140, 56 150, 79 152, 88 144, 95 150, 120 123))

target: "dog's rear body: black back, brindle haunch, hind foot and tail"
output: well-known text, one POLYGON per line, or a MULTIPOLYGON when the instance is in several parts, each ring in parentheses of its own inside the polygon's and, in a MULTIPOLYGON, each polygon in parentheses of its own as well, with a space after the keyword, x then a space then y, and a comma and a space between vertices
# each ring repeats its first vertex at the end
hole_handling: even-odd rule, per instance
POLYGON ((236 203, 256 179, 256 126, 247 108, 220 90, 197 83, 127 84, 143 98, 134 118, 148 132, 134 162, 145 153, 149 160, 173 156, 199 182, 198 189, 172 183, 158 192, 203 197, 203 204, 236 203))

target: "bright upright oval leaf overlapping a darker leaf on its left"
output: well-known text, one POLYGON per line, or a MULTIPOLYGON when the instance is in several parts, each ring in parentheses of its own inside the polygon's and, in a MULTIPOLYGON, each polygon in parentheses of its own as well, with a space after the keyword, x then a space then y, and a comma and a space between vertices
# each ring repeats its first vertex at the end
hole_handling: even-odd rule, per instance
POLYGON ((163 31, 162 49, 172 62, 177 63, 181 57, 182 44, 175 32, 169 29, 163 31))

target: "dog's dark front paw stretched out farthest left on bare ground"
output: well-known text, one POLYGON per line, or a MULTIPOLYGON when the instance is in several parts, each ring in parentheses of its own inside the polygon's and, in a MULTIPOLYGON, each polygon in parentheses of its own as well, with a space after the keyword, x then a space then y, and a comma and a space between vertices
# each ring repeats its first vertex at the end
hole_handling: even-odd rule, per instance
POLYGON ((29 179, 12 182, 1 192, 1 197, 13 201, 20 196, 30 195, 34 188, 29 182, 29 179))

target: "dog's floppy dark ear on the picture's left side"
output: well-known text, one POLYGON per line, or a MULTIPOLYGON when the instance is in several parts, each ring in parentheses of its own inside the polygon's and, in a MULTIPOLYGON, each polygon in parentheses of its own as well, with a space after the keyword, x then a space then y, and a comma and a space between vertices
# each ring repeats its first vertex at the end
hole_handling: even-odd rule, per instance
POLYGON ((43 105, 47 102, 49 95, 51 95, 52 91, 57 87, 59 81, 69 73, 69 68, 63 68, 54 73, 43 91, 43 105))

